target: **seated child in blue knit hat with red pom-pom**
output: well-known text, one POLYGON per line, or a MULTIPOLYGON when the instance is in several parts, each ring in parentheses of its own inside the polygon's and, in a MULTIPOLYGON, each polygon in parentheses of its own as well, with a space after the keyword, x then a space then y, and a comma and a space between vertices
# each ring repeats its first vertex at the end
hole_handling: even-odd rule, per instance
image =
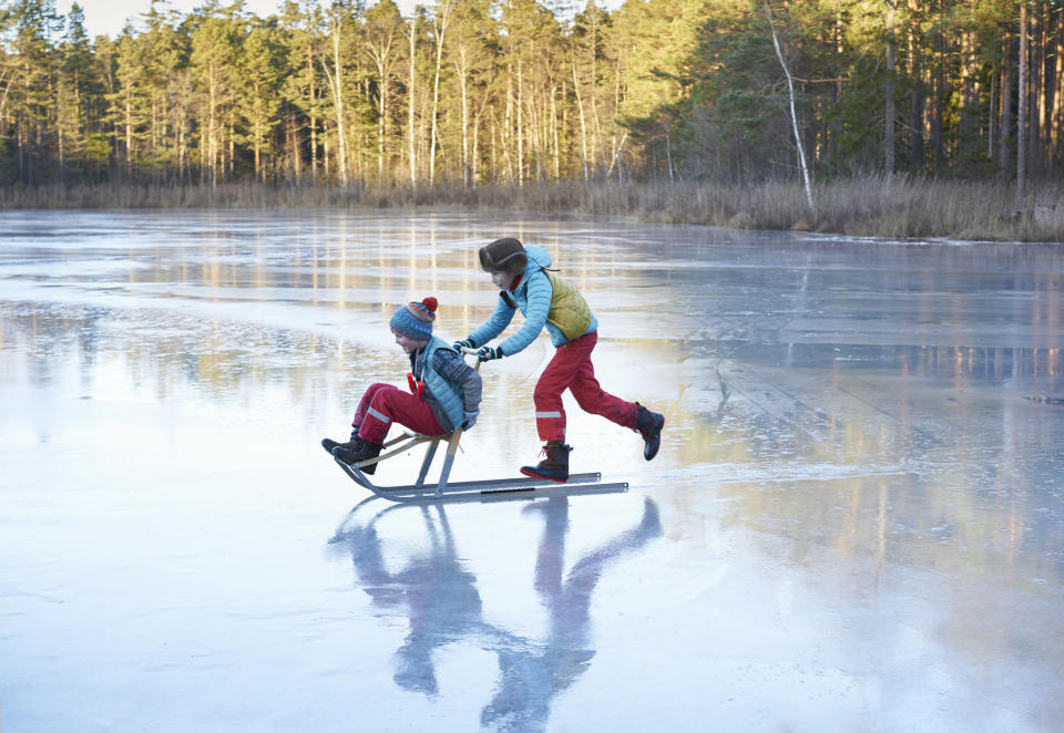
MULTIPOLYGON (((393 422, 422 435, 469 430, 477 422, 480 374, 466 363, 460 351, 432 335, 437 307, 436 298, 426 298, 407 303, 391 317, 396 343, 410 357, 410 393, 391 384, 370 384, 351 421, 351 440, 323 440, 328 453, 348 465, 376 458, 393 422)), ((376 463, 361 468, 366 474, 376 469, 376 463)))

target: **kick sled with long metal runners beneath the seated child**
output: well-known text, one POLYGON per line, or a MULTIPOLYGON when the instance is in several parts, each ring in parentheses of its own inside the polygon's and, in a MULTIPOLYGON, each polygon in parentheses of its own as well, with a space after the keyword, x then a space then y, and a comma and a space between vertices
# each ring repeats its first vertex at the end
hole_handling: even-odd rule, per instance
POLYGON ((536 494, 556 495, 559 493, 610 494, 626 491, 628 487, 627 482, 600 484, 598 481, 602 478, 602 474, 597 472, 587 474, 573 474, 565 483, 557 483, 548 481, 545 478, 531 478, 528 476, 521 476, 518 478, 457 481, 454 483, 449 483, 448 478, 451 475, 451 467, 454 465, 454 455, 458 453, 458 443, 461 440, 461 429, 454 431, 450 435, 419 435, 403 433, 402 435, 399 435, 398 437, 385 443, 383 448, 386 451, 387 448, 392 450, 382 452, 376 458, 361 461, 354 465, 348 465, 336 456, 334 456, 332 460, 336 461, 340 468, 344 469, 344 473, 350 476, 351 479, 359 486, 368 488, 377 496, 400 503, 441 502, 457 499, 468 500, 470 498, 509 498, 513 494, 518 493, 531 494, 532 496, 536 494), (443 441, 447 441, 447 454, 443 456, 443 467, 440 469, 440 479, 434 485, 430 484, 427 486, 424 483, 426 476, 429 474, 429 467, 432 465, 432 458, 436 457, 437 448, 443 441), (421 445, 422 443, 427 443, 428 448, 426 451, 424 458, 421 461, 421 469, 418 472, 418 479, 413 484, 409 484, 407 486, 377 486, 361 471, 361 468, 368 465, 380 463, 381 461, 396 456, 400 453, 405 453, 417 445, 421 445))

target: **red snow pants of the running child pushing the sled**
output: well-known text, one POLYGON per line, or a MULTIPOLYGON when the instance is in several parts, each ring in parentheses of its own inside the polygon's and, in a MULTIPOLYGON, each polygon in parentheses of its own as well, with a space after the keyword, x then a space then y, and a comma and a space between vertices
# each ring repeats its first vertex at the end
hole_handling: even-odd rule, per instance
POLYGON ((557 348, 551 363, 540 374, 532 400, 535 402, 535 427, 542 441, 565 440, 565 409, 562 392, 569 390, 584 412, 602 415, 624 427, 635 430, 638 407, 604 392, 595 379, 591 352, 598 342, 598 332, 585 333, 557 348))

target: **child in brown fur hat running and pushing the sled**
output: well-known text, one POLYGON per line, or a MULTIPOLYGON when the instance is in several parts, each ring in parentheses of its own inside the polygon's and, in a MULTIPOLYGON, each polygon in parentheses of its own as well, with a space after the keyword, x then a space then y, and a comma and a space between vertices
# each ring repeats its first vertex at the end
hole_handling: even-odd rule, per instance
POLYGON ((454 344, 475 349, 481 361, 512 357, 528 347, 544 328, 557 351, 535 384, 535 425, 545 458, 521 473, 559 483, 569 481, 569 453, 565 444, 565 410, 562 392, 570 390, 582 410, 602 415, 643 436, 643 457, 657 455, 665 417, 638 402, 625 402, 598 386, 591 352, 598 340, 598 319, 583 296, 570 282, 548 271, 551 256, 542 247, 523 246, 507 237, 480 248, 480 265, 491 275, 499 292, 495 310, 463 341, 454 344), (515 311, 524 316, 524 326, 497 347, 484 345, 510 324, 515 311))

